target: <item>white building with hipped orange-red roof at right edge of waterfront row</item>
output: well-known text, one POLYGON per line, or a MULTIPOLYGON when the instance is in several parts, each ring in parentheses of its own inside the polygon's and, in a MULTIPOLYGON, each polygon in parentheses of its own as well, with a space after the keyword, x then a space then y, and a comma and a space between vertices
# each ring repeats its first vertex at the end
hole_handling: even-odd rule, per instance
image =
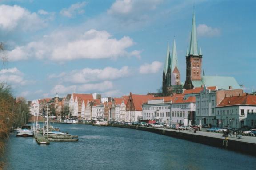
POLYGON ((225 97, 216 107, 220 127, 256 126, 256 96, 225 97))

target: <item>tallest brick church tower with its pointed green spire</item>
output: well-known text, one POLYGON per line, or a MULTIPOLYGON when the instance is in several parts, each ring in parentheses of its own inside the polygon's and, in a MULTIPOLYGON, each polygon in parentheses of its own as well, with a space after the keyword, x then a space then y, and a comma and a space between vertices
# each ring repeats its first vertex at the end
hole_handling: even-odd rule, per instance
POLYGON ((184 88, 193 89, 192 81, 201 81, 201 72, 202 72, 202 51, 200 49, 198 53, 197 48, 197 39, 196 39, 196 21, 195 13, 193 13, 192 19, 192 30, 190 37, 190 46, 186 54, 186 81, 184 88))

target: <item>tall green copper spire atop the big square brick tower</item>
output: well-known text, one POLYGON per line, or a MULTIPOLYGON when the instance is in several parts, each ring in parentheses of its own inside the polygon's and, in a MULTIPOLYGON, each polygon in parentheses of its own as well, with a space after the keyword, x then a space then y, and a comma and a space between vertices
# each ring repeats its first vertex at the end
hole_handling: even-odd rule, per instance
POLYGON ((189 55, 198 56, 198 49, 197 49, 197 39, 196 39, 196 19, 195 19, 195 12, 193 12, 193 19, 192 19, 192 30, 191 30, 191 37, 190 37, 190 47, 189 47, 189 55))

